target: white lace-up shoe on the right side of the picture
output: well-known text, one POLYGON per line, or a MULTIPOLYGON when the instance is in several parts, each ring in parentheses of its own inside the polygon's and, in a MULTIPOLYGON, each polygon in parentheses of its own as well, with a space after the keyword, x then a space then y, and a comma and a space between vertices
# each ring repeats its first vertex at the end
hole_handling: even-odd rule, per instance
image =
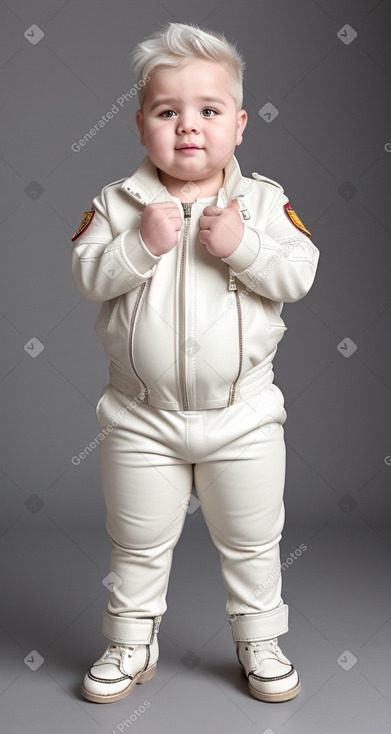
POLYGON ((250 692, 260 701, 289 701, 301 688, 297 671, 277 643, 277 637, 236 643, 250 692))

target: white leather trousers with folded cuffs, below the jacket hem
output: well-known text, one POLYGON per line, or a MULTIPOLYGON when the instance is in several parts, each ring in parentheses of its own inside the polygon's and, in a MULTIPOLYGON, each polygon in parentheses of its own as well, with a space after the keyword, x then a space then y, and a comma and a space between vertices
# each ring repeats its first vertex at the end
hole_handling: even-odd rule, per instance
POLYGON ((130 642, 130 620, 143 625, 141 619, 166 611, 173 549, 192 511, 193 483, 220 553, 227 615, 257 615, 249 618, 255 638, 286 632, 279 565, 287 417, 281 390, 273 383, 228 408, 173 411, 132 400, 108 384, 96 416, 104 431, 99 456, 112 542, 103 634, 130 642))

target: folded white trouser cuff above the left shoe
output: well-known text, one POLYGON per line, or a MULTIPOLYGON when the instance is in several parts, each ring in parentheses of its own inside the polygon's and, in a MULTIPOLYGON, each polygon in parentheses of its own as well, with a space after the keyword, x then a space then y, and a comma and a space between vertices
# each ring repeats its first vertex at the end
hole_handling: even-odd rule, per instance
POLYGON ((150 645, 159 631, 161 615, 152 618, 119 617, 106 609, 102 615, 102 633, 112 642, 150 645))

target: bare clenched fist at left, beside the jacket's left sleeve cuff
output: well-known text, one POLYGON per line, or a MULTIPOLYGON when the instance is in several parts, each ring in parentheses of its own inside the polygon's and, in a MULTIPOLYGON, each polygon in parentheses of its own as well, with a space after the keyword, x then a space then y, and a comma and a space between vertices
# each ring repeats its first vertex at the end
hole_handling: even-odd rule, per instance
POLYGON ((178 244, 182 217, 177 204, 160 201, 147 204, 140 219, 140 233, 152 255, 164 255, 178 244))

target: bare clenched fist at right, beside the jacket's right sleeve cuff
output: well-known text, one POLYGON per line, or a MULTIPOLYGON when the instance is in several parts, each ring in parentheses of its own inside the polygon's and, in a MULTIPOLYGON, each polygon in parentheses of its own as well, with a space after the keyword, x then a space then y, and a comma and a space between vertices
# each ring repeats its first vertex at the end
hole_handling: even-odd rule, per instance
POLYGON ((198 239, 211 255, 232 255, 243 239, 244 224, 239 214, 239 202, 232 199, 228 206, 205 207, 199 221, 198 239))

